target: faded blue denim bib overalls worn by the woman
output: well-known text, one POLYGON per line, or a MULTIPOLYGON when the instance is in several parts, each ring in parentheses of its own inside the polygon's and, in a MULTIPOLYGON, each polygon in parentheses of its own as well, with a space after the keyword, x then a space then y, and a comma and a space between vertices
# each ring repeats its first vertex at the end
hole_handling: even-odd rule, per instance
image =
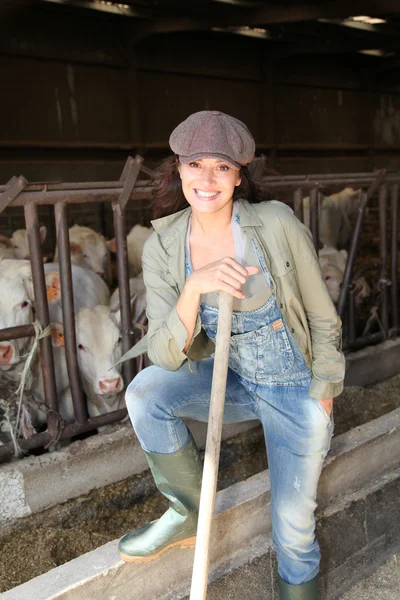
MULTIPOLYGON (((288 330, 261 249, 250 235, 272 294, 259 308, 234 311, 224 423, 259 419, 271 482, 273 542, 284 581, 300 585, 319 570, 316 496, 333 420, 308 395, 311 374, 288 330)), ((186 257, 186 276, 191 273, 186 257)), ((218 309, 201 304, 207 335, 215 339, 218 309)), ((176 371, 152 365, 129 385, 126 404, 136 435, 149 452, 170 454, 189 439, 183 419, 207 421, 214 358, 186 361, 176 371)))

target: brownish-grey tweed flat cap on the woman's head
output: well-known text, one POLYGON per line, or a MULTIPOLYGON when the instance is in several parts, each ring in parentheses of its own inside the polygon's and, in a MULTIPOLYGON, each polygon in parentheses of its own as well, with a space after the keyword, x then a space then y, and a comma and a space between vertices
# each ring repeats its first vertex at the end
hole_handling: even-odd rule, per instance
POLYGON ((255 142, 242 121, 219 112, 201 110, 182 121, 170 135, 171 150, 183 163, 220 158, 239 169, 254 158, 255 142))

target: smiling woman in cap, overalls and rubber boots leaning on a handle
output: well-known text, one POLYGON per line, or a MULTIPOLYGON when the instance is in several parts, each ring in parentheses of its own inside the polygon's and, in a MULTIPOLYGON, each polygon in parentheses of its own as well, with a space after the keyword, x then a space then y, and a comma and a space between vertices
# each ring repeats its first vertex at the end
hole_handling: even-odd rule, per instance
MULTIPOLYGON (((153 560, 195 543, 201 464, 184 417, 207 421, 219 290, 234 296, 224 422, 259 419, 271 479, 281 599, 317 598, 314 510, 343 388, 341 322, 310 231, 286 205, 260 202, 247 165, 255 143, 218 111, 172 132, 143 253, 154 366, 128 387, 129 415, 170 508, 125 535, 125 561, 153 560), (183 210, 182 210, 183 209, 183 210)), ((264 194, 265 195, 265 194, 264 194)))

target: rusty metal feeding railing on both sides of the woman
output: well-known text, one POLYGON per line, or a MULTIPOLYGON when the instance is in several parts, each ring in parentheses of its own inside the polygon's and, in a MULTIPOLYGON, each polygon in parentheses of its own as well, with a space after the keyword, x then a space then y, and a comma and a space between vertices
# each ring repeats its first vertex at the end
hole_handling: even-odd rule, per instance
MULTIPOLYGON (((152 190, 154 189, 154 181, 152 180, 154 180, 153 173, 144 167, 143 159, 140 156, 136 156, 135 158, 128 158, 121 179, 118 182, 29 184, 26 179, 19 177, 13 178, 5 186, 0 186, 0 213, 7 206, 24 207, 32 264, 36 317, 43 329, 49 325, 50 319, 40 246, 37 207, 42 204, 54 206, 63 299, 65 355, 75 415, 75 422, 68 424, 62 422, 62 419, 59 417, 52 343, 50 337, 44 337, 40 340, 40 360, 43 373, 45 403, 48 409, 47 430, 37 433, 28 439, 18 439, 22 451, 29 451, 40 447, 52 449, 58 440, 70 439, 77 434, 86 433, 102 425, 120 421, 127 414, 124 408, 93 418, 88 416, 76 351, 67 211, 68 205, 74 203, 109 202, 112 205, 117 247, 116 260, 121 306, 122 350, 125 352, 132 346, 134 340, 129 294, 125 208, 129 199, 133 201, 135 199, 150 200, 152 190), (151 179, 138 180, 140 170, 150 175, 151 179)), ((338 312, 344 318, 345 322, 346 336, 344 348, 353 350, 397 336, 399 333, 397 236, 400 174, 387 174, 383 170, 376 173, 350 173, 344 175, 266 177, 263 178, 263 182, 271 191, 277 192, 278 197, 280 192, 289 194, 294 212, 301 220, 303 220, 304 195, 308 194, 310 196, 310 229, 317 250, 319 241, 319 203, 322 192, 332 185, 362 188, 361 202, 354 225, 348 261, 338 301, 338 312), (354 293, 351 288, 352 274, 366 208, 371 198, 376 196, 376 194, 378 194, 379 198, 380 221, 380 329, 377 332, 357 338, 354 326, 356 313, 354 293), (388 266, 387 260, 389 249, 387 236, 388 196, 390 196, 391 217, 390 266, 388 266), (389 285, 391 289, 390 299, 388 292, 389 285)), ((31 324, 11 327, 0 330, 0 342, 21 337, 33 337, 34 335, 35 329, 31 324)), ((126 362, 123 366, 125 385, 132 380, 134 375, 135 362, 126 362)), ((10 458, 13 453, 14 446, 12 443, 0 446, 0 461, 10 458)))

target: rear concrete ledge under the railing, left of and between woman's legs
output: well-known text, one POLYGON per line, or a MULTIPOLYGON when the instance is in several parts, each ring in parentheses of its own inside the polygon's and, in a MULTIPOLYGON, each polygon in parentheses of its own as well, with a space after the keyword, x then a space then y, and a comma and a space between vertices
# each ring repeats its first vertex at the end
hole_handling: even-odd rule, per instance
MULTIPOLYGON (((186 421, 199 448, 207 425, 186 421)), ((248 431, 258 421, 223 427, 222 439, 248 431)), ((87 494, 148 469, 144 452, 130 424, 104 430, 66 448, 0 466, 0 531, 21 517, 35 514, 70 498, 87 494)))

